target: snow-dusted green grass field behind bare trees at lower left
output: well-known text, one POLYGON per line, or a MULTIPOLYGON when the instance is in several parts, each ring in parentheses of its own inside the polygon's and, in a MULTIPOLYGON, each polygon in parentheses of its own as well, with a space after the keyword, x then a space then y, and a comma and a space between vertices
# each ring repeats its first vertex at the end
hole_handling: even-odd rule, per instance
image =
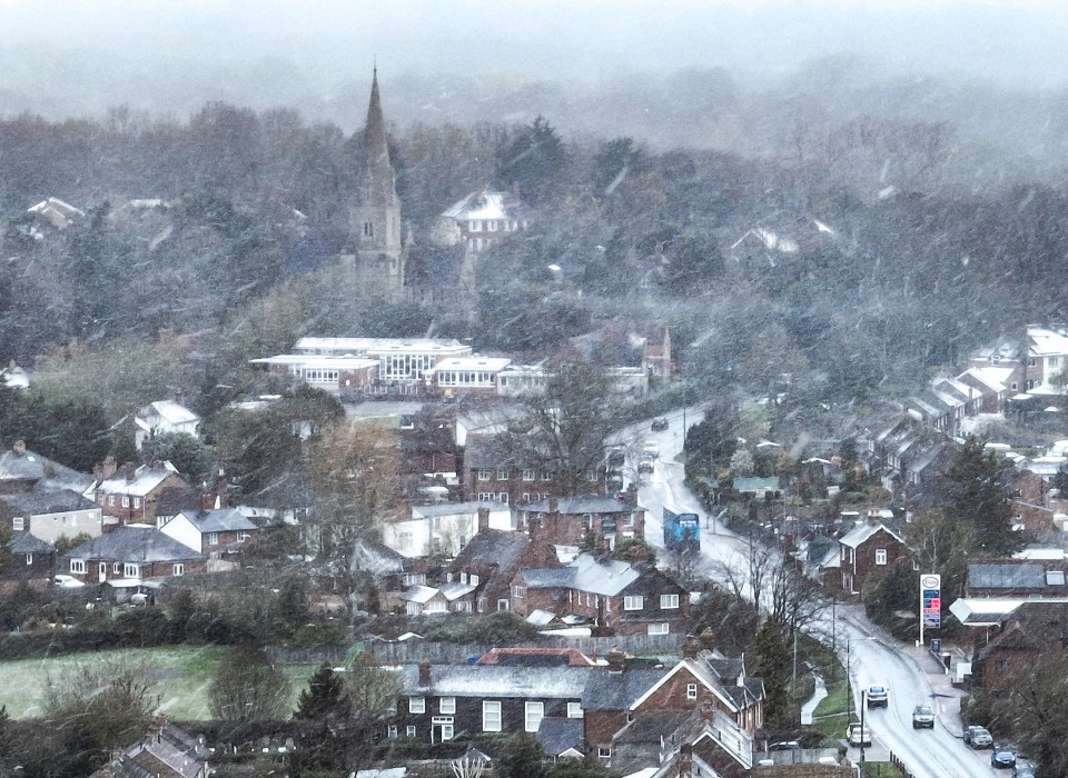
MULTIPOLYGON (((0 706, 11 718, 41 715, 42 690, 49 677, 85 662, 144 662, 156 681, 159 710, 178 720, 208 719, 208 686, 229 649, 214 646, 174 646, 137 651, 97 651, 49 659, 0 662, 0 706)), ((315 672, 315 665, 283 665, 293 684, 293 702, 315 672)))

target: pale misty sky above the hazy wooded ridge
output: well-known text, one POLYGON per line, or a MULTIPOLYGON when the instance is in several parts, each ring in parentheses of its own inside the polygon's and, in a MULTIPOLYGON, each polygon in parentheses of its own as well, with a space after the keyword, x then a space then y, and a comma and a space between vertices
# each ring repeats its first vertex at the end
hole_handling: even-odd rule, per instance
POLYGON ((1037 0, 0 0, 0 116, 79 114, 151 90, 176 110, 329 100, 365 84, 376 57, 384 80, 491 86, 775 77, 848 52, 880 72, 1059 88, 1066 50, 1068 3, 1037 0))

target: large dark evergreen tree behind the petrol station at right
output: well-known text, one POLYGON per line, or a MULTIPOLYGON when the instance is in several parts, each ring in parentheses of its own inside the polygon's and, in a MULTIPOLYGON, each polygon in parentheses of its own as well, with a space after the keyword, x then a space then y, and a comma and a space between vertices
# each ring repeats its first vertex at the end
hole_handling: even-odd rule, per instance
POLYGON ((1007 557, 1024 547, 1024 537, 1012 531, 1009 502, 1010 465, 970 436, 957 452, 942 481, 947 512, 958 525, 975 528, 976 550, 1007 557))

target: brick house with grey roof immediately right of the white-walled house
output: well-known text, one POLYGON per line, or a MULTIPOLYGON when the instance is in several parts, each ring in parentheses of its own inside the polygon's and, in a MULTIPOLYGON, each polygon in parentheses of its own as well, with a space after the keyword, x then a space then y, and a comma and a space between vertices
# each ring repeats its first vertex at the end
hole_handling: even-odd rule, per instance
POLYGON ((645 509, 637 505, 636 488, 623 498, 600 495, 550 497, 516 510, 516 527, 544 542, 615 548, 617 540, 645 539, 645 509))

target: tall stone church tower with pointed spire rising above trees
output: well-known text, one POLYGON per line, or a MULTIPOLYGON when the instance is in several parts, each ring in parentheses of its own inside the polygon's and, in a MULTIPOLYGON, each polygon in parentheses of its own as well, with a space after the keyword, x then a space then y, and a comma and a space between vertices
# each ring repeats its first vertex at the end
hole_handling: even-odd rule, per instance
POLYGON ((370 103, 357 160, 355 189, 348 210, 348 253, 357 277, 368 288, 399 295, 404 287, 405 265, 400 200, 386 143, 377 68, 370 83, 370 103))

